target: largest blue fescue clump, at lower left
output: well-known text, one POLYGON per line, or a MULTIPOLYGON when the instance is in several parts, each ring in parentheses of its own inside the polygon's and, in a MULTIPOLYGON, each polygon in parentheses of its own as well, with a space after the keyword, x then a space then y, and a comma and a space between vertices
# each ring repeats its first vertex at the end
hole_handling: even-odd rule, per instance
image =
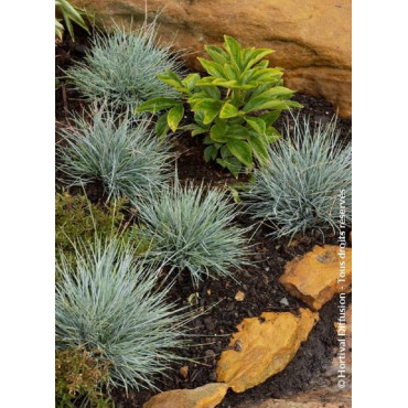
POLYGON ((155 289, 160 268, 138 261, 119 239, 78 245, 57 264, 57 350, 85 350, 108 367, 109 387, 154 389, 154 376, 181 359, 191 313, 155 289))

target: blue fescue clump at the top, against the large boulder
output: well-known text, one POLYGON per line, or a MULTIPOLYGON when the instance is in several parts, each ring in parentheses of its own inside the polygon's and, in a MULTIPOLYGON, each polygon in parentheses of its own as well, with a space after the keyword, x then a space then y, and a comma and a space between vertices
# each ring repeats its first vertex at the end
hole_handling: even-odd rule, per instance
POLYGON ((83 62, 67 76, 88 101, 107 100, 115 108, 133 109, 154 97, 176 97, 157 76, 181 64, 170 46, 157 45, 155 22, 132 30, 115 26, 111 34, 95 33, 83 62))

